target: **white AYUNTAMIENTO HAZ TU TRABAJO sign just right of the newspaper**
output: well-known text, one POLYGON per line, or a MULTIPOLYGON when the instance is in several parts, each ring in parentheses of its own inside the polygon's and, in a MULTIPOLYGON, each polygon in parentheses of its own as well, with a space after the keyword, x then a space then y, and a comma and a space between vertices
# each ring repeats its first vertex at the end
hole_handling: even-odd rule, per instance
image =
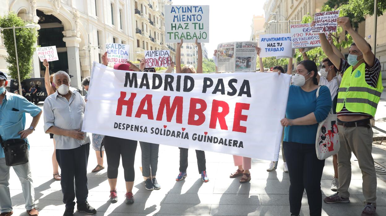
POLYGON ((271 56, 292 56, 291 34, 260 35, 260 58, 271 56))

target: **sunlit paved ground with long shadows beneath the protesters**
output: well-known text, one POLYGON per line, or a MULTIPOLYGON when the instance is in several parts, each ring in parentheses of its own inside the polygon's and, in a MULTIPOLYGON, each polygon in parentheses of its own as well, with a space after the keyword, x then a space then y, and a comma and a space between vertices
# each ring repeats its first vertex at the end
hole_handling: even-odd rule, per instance
MULTIPOLYGON (((42 104, 40 104, 42 105, 42 104)), ((377 126, 386 130, 386 102, 379 105, 377 126), (384 108, 383 108, 384 107, 384 108)), ((31 121, 27 115, 27 125, 31 121)), ((61 201, 60 182, 52 179, 51 155, 52 140, 43 133, 43 121, 39 121, 36 131, 29 137, 31 143, 30 162, 35 185, 37 208, 41 216, 62 215, 64 204, 61 201)), ((373 145, 374 159, 380 164, 386 163, 386 148, 373 145)), ((240 184, 238 179, 230 179, 229 174, 236 170, 231 155, 206 152, 207 173, 210 181, 204 183, 198 174, 195 151, 189 151, 188 177, 176 182, 178 175, 179 150, 176 147, 160 146, 157 180, 160 190, 147 191, 141 175, 141 148, 137 147, 135 158, 135 203, 124 203, 125 183, 123 169, 119 170, 118 197, 115 204, 108 202, 109 186, 107 169, 91 173, 97 165, 95 151, 90 150, 88 163, 88 201, 98 211, 97 215, 136 216, 136 215, 289 215, 288 173, 283 172, 283 161, 279 159, 278 169, 267 172, 267 161, 252 160, 250 183, 240 184)), ((106 160, 105 160, 106 162, 106 160)), ((362 175, 355 156, 352 156, 352 180, 350 203, 325 204, 322 215, 360 215, 363 207, 362 175)), ((106 164, 105 164, 106 165, 106 164)), ((325 163, 322 177, 323 198, 334 194, 330 190, 332 158, 325 163)), ((386 182, 383 175, 378 176, 377 212, 386 215, 386 182)), ((27 215, 19 179, 13 171, 10 178, 11 197, 14 215, 27 215)), ((75 213, 74 215, 85 215, 75 213)), ((301 215, 309 215, 306 195, 303 197, 301 215)))

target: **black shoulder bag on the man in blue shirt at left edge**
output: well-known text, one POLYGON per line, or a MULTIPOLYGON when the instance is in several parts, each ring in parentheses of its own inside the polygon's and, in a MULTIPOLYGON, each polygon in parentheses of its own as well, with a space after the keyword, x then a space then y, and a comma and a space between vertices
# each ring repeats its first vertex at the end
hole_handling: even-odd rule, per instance
POLYGON ((24 139, 8 139, 3 142, 0 136, 0 144, 4 150, 5 164, 8 167, 28 162, 28 145, 24 139))

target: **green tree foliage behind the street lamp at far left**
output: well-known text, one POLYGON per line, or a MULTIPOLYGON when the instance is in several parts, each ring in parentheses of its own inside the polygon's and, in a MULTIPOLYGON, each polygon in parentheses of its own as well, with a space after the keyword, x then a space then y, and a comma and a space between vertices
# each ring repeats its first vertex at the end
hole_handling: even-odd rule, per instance
MULTIPOLYGON (((25 26, 27 23, 18 17, 14 12, 0 17, 0 27, 19 27, 25 26)), ((14 33, 12 29, 5 29, 1 31, 4 46, 7 50, 8 57, 6 58, 9 74, 13 79, 17 79, 17 65, 15 54, 14 33)), ((15 29, 17 56, 19 60, 20 80, 30 78, 30 72, 32 71, 32 56, 36 50, 35 43, 37 40, 36 28, 20 28, 15 29)))

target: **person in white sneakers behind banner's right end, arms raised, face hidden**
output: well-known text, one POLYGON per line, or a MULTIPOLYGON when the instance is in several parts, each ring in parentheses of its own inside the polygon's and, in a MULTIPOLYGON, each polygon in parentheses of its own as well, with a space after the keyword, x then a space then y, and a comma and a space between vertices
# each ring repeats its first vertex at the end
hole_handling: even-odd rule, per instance
MULTIPOLYGON (((257 51, 257 55, 259 55, 261 49, 259 47, 256 47, 256 51, 257 51)), ((289 58, 288 66, 287 66, 287 72, 284 72, 284 68, 282 66, 279 66, 279 65, 274 66, 272 69, 272 72, 276 72, 279 74, 280 73, 287 73, 287 74, 291 75, 292 74, 292 61, 293 61, 293 59, 289 58)), ((264 72, 264 65, 263 65, 262 58, 259 58, 259 66, 260 66, 260 72, 264 72)), ((284 137, 284 133, 283 133, 283 137, 284 137)), ((283 171, 288 172, 286 157, 284 156, 284 150, 283 150, 283 137, 281 138, 282 139, 281 156, 283 158, 283 171)), ((278 165, 278 161, 271 161, 271 163, 269 163, 269 165, 268 165, 267 171, 273 171, 274 169, 276 169, 277 165, 278 165)))

